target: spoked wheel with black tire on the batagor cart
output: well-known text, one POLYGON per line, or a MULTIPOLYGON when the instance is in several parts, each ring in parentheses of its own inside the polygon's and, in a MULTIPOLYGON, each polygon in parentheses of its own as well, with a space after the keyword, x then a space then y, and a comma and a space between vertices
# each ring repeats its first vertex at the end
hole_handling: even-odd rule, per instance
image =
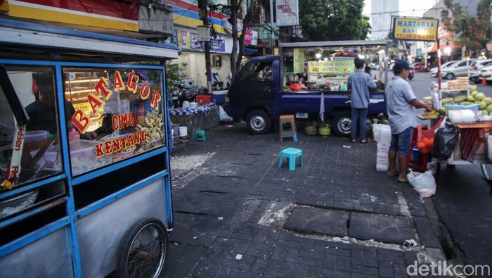
POLYGON ((117 277, 159 277, 169 237, 157 218, 145 218, 129 231, 118 251, 117 277))

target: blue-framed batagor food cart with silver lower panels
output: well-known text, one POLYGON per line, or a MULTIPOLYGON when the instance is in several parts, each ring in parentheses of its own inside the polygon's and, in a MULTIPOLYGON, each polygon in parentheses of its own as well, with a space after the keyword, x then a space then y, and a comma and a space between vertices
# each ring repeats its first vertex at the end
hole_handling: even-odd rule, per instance
POLYGON ((0 276, 157 277, 173 228, 164 61, 0 20, 0 276))

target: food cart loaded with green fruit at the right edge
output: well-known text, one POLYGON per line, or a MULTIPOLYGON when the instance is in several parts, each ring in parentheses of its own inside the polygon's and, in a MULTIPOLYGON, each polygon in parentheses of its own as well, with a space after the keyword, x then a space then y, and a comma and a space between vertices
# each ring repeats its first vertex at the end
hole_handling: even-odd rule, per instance
MULTIPOLYGON (((488 179, 490 170, 490 156, 488 155, 488 133, 492 129, 492 98, 477 91, 477 86, 469 85, 467 77, 450 80, 431 87, 431 96, 427 98, 434 108, 439 110, 432 113, 422 113, 419 118, 431 120, 435 125, 439 118, 446 116, 446 136, 440 145, 431 150, 433 156, 440 158, 448 165, 482 165, 484 177, 488 179), (454 141, 453 133, 456 135, 454 141), (447 145, 445 145, 447 144, 447 145), (445 154, 443 155, 443 152, 445 154), (445 158, 443 160, 443 158, 445 158)), ((438 139, 432 138, 435 142, 438 139)))

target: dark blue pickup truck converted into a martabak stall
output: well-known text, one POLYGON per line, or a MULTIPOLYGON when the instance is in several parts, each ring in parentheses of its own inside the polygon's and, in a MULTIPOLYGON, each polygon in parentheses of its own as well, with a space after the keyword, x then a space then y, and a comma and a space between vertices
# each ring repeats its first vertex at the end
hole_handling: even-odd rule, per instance
MULTIPOLYGON (((348 50, 338 56, 333 56, 333 53, 336 55, 340 45, 351 46, 357 43, 368 44, 364 41, 280 44, 280 56, 252 58, 241 68, 229 87, 226 110, 235 120, 244 120, 250 133, 265 134, 270 131, 273 122, 278 121, 280 115, 293 114, 297 118, 320 120, 319 116, 323 115, 320 113, 321 99, 323 99, 325 118, 322 120, 328 122, 331 120, 332 131, 337 136, 348 137, 351 130, 351 91, 350 88, 344 91, 340 88, 347 86, 347 77, 354 72, 353 56, 357 54, 348 50), (324 48, 322 49, 321 46, 324 48), (314 61, 311 62, 309 56, 313 51, 323 53, 322 55, 327 57, 332 55, 331 60, 324 59, 322 56, 318 58, 315 53, 313 56, 316 56, 317 60, 313 59, 314 61), (343 55, 345 57, 341 57, 343 55), (337 61, 341 62, 337 63, 337 61), (352 68, 347 66, 350 64, 352 68), (343 67, 339 68, 339 65, 343 67), (302 89, 295 91, 290 89, 289 84, 301 82, 297 78, 303 71, 305 80, 302 89)), ((379 41, 379 44, 373 43, 370 46, 384 45, 384 43, 386 42, 379 41)), ((368 45, 365 45, 365 48, 370 49, 368 45)), ((387 74, 385 76, 387 77, 387 74)), ((378 88, 370 91, 369 119, 387 111, 384 84, 377 83, 379 83, 378 88)))

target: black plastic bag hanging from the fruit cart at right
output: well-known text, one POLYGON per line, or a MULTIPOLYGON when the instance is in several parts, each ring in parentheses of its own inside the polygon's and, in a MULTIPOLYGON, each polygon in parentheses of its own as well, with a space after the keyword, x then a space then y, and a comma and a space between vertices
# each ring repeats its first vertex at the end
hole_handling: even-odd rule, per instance
POLYGON ((460 130, 454 125, 437 129, 434 137, 434 147, 432 157, 442 162, 446 162, 458 144, 460 130))

